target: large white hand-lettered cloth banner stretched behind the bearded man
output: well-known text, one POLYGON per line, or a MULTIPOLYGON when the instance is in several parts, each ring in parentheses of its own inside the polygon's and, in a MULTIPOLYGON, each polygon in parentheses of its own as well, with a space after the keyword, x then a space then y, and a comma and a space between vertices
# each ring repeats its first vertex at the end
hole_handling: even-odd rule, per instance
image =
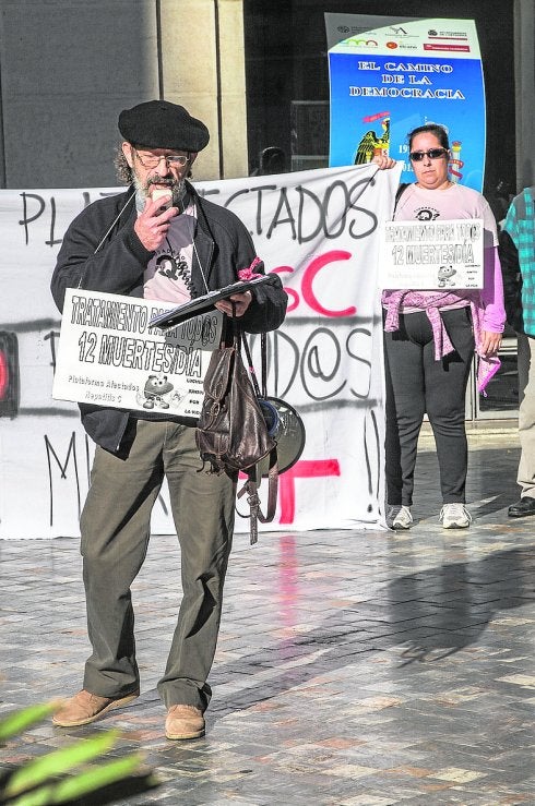
MULTIPOLYGON (((399 178, 399 168, 368 165, 195 183, 241 218, 289 298, 283 326, 268 334, 268 393, 297 409, 307 442, 280 478, 277 514, 263 531, 382 522, 378 264, 399 178)), ((120 190, 0 191, 0 359, 10 369, 0 398, 2 539, 80 534, 94 446, 78 406, 51 397, 61 315, 50 277, 70 221, 120 190)), ((260 337, 249 341, 259 371, 260 337)), ((238 532, 248 527, 237 518, 238 532)), ((166 485, 152 531, 175 532, 166 485)))

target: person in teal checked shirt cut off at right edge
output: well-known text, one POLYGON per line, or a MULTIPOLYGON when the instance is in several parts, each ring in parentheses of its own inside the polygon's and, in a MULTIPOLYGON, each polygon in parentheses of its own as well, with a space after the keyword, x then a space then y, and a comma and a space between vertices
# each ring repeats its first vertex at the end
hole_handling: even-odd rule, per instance
POLYGON ((508 322, 519 334, 521 497, 508 515, 522 518, 535 515, 535 188, 525 188, 511 202, 500 234, 500 260, 508 322))

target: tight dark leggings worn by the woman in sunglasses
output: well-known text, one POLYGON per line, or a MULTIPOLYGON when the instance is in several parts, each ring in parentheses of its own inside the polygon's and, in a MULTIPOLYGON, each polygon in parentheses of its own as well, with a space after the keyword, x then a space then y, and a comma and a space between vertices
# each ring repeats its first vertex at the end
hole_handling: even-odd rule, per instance
POLYGON ((384 334, 387 372, 387 495, 389 504, 413 503, 418 435, 427 412, 435 434, 444 504, 464 503, 467 442, 465 394, 474 334, 469 308, 441 312, 455 351, 435 360, 425 311, 401 314, 400 329, 384 334))

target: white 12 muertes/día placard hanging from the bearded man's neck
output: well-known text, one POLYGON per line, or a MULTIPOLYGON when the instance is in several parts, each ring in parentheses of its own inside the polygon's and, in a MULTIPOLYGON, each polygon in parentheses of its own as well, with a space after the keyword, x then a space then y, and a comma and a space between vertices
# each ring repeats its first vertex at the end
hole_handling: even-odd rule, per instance
POLYGON ((133 411, 199 417, 203 380, 223 314, 165 333, 150 322, 171 304, 68 289, 52 397, 133 411))

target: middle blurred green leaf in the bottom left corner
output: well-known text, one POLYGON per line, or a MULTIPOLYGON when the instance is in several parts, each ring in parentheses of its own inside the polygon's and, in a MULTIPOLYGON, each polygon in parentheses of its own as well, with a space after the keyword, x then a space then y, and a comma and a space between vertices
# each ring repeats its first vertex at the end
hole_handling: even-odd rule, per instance
POLYGON ((35 761, 28 761, 11 775, 5 785, 5 795, 10 797, 19 795, 54 775, 61 775, 73 767, 107 753, 114 747, 119 735, 119 731, 107 731, 93 738, 82 739, 74 745, 49 753, 35 761))

